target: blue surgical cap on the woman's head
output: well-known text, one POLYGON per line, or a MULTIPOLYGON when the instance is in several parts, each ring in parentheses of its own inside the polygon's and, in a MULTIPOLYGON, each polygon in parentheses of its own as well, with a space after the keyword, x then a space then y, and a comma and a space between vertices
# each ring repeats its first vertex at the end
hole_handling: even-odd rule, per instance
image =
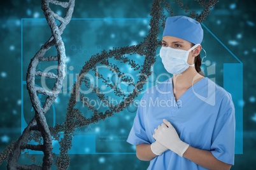
POLYGON ((193 44, 201 44, 203 29, 199 22, 187 16, 170 16, 166 20, 162 36, 178 37, 193 44))

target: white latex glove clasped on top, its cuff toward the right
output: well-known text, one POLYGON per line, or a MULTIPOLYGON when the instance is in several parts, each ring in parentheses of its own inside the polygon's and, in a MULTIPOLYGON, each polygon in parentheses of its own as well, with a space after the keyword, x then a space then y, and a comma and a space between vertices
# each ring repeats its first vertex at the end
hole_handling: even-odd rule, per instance
POLYGON ((180 155, 180 157, 183 157, 183 154, 189 145, 180 140, 180 137, 170 122, 166 121, 166 119, 163 121, 164 123, 155 129, 153 138, 164 145, 164 147, 169 148, 169 150, 172 150, 174 153, 180 155))

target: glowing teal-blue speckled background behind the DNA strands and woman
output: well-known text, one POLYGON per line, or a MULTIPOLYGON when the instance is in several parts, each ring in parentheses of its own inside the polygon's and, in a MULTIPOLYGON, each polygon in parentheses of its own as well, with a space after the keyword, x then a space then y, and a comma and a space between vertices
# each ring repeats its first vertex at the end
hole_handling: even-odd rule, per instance
MULTIPOLYGON (((192 10, 201 9, 196 3, 184 3, 192 10)), ((100 53, 103 49, 134 45, 143 41, 149 29, 151 4, 152 1, 76 1, 73 20, 62 35, 68 56, 66 86, 46 114, 50 126, 64 121, 72 79, 91 55, 100 53)), ((238 97, 235 103, 238 110, 243 110, 243 122, 241 119, 237 120, 243 126, 243 148, 240 148, 243 154, 236 154, 235 166, 232 169, 255 168, 255 5, 255 1, 220 1, 203 22, 205 27, 202 45, 207 52, 207 58, 204 59, 207 62, 202 65, 202 69, 206 76, 215 79, 220 86, 229 84, 229 79, 232 81, 230 77, 225 77, 225 69, 229 70, 229 74, 243 77, 243 82, 237 82, 243 83, 243 91, 238 89, 238 94, 243 93, 243 100, 238 97), (239 72, 241 67, 227 65, 239 63, 239 60, 243 63, 243 75, 239 72), (224 63, 227 67, 224 67, 224 63), (213 65, 215 69, 212 69, 213 65), (209 68, 214 72, 208 72, 209 68), (228 68, 237 69, 232 72, 228 68)), ((64 13, 61 10, 56 12, 60 15, 64 13)), ((3 150, 12 140, 17 140, 26 122, 34 115, 25 88, 25 72, 32 56, 50 37, 50 29, 43 19, 40 1, 5 2, 0 6, 0 14, 0 150, 3 150)), ((175 10, 174 14, 183 15, 180 10, 175 10)), ((140 64, 143 62, 143 58, 138 55, 130 57, 140 64)), ((117 62, 117 65, 124 68, 123 72, 133 75, 138 73, 122 63, 117 62)), ((42 64, 38 70, 46 67, 48 65, 42 64)), ((152 69, 155 77, 165 73, 158 56, 152 69)), ((109 77, 113 75, 106 72, 104 74, 109 77)), ((150 77, 145 88, 157 83, 155 77, 150 77)), ((233 79, 237 81, 238 77, 233 79)), ((160 77, 159 80, 166 78, 167 76, 160 77)), ((129 91, 125 84, 121 88, 129 91)), ((236 91, 234 88, 229 90, 236 91)), ((140 97, 141 95, 137 99, 140 97)), ((84 109, 78 105, 79 107, 84 109)), ((146 169, 148 162, 138 160, 134 155, 134 147, 125 142, 135 111, 136 108, 130 107, 106 121, 78 129, 73 150, 69 152, 69 169, 146 169)), ((84 110, 83 113, 85 116, 90 115, 84 110)), ((58 152, 57 142, 53 141, 53 146, 53 152, 58 152)), ((26 162, 25 157, 22 156, 20 161, 26 162)), ((41 155, 36 153, 36 158, 41 160, 41 155)), ((5 163, 1 165, 1 169, 5 167, 5 163)))

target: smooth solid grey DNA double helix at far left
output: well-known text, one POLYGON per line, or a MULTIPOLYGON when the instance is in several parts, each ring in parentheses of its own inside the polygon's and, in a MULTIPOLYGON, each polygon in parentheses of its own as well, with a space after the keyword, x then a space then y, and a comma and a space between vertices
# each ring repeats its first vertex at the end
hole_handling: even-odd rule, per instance
POLYGON ((41 46, 38 53, 31 59, 31 63, 29 64, 29 68, 27 70, 27 89, 29 91, 29 96, 32 101, 32 107, 35 110, 34 118, 29 122, 27 128, 24 129, 20 138, 18 138, 15 143, 15 147, 13 151, 9 155, 8 159, 8 169, 51 169, 52 166, 52 136, 50 134, 50 130, 48 128, 48 124, 46 122, 45 114, 49 110, 53 101, 57 98, 57 95, 62 88, 62 82, 65 77, 65 60, 66 53, 64 42, 60 37, 63 30, 66 28, 66 25, 71 20, 71 16, 73 14, 73 9, 75 6, 75 0, 69 0, 69 2, 60 2, 56 0, 42 0, 42 10, 45 14, 46 20, 50 29, 52 30, 52 36, 48 41, 41 46), (61 16, 54 13, 49 6, 49 3, 62 6, 66 8, 66 16, 62 18, 61 16), (59 20, 60 25, 57 26, 55 19, 59 20), (45 57, 46 51, 50 49, 52 46, 55 46, 57 49, 57 56, 47 56, 45 57), (52 72, 39 72, 36 71, 36 67, 39 62, 52 62, 57 61, 57 75, 52 72), (48 77, 50 79, 56 79, 54 87, 52 91, 46 91, 44 88, 35 86, 35 77, 36 75, 41 77, 48 77), (46 95, 46 101, 43 107, 41 107, 41 103, 37 94, 46 95), (32 131, 41 132, 41 136, 43 137, 43 145, 30 145, 27 144, 29 136, 31 136, 32 131), (43 151, 43 166, 38 166, 36 164, 32 165, 22 165, 18 164, 18 158, 20 157, 21 150, 30 149, 30 150, 38 150, 43 151))

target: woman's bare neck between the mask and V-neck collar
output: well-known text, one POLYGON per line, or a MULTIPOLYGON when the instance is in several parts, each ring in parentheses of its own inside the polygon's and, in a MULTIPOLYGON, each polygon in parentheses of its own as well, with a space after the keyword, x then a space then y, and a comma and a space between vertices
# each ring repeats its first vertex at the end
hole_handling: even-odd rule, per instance
POLYGON ((203 76, 196 71, 195 67, 188 67, 183 73, 173 75, 173 89, 187 90, 200 79, 203 79, 203 76))

